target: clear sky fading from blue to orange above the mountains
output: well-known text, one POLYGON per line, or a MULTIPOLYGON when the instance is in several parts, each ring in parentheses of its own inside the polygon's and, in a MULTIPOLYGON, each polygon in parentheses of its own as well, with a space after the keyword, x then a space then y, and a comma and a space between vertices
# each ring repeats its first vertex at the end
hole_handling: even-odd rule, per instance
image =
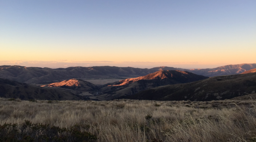
POLYGON ((256 63, 256 0, 0 0, 0 65, 256 63))

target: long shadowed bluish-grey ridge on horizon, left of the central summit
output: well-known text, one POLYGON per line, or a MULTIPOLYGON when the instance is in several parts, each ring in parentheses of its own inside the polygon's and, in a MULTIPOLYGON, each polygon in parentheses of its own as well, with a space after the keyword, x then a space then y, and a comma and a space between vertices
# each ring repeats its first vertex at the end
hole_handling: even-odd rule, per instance
POLYGON ((69 68, 37 68, 18 65, 0 66, 0 78, 26 83, 51 83, 72 78, 88 77, 138 77, 152 73, 147 68, 131 67, 69 67, 69 68))

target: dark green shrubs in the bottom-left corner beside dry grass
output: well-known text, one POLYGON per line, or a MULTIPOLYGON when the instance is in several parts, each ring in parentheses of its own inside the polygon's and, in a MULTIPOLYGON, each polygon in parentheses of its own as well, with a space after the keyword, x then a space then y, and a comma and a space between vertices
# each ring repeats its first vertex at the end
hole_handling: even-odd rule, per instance
POLYGON ((33 124, 29 120, 21 125, 0 125, 0 142, 96 142, 97 137, 81 126, 60 128, 49 124, 33 124))

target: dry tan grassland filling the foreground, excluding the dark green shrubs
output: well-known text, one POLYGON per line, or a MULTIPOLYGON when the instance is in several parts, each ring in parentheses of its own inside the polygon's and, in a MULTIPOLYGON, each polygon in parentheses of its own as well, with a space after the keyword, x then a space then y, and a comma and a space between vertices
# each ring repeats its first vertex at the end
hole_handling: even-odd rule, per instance
POLYGON ((96 142, 256 142, 256 101, 21 101, 0 98, 0 125, 79 126, 96 142))

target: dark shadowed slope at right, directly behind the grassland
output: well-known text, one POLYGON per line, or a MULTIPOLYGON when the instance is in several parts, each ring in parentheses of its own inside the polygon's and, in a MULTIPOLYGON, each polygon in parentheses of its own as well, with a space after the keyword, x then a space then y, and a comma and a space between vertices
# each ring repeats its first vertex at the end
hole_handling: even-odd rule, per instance
POLYGON ((210 101, 256 92, 256 73, 210 77, 196 82, 165 85, 126 96, 126 99, 210 101))

